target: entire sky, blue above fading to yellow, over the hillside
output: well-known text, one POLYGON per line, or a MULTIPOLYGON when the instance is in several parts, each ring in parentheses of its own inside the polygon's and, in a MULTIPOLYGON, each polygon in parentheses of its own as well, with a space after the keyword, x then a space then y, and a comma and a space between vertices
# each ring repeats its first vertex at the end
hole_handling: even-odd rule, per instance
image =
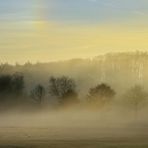
POLYGON ((148 50, 147 0, 0 0, 0 62, 148 50))

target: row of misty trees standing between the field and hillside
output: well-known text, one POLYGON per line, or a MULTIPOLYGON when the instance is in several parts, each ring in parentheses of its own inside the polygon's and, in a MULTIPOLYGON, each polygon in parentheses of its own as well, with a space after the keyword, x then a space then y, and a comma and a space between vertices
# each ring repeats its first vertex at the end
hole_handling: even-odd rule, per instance
MULTIPOLYGON (((59 105, 77 104, 80 102, 75 80, 67 76, 50 77, 48 87, 37 84, 30 90, 29 94, 25 93, 25 81, 22 73, 0 75, 0 103, 13 101, 26 97, 42 104, 47 94, 51 98, 56 98, 59 105)), ((112 102, 117 92, 107 83, 100 83, 89 89, 86 100, 88 103, 100 104, 105 106, 112 102)), ((148 93, 140 85, 135 85, 125 92, 123 98, 127 104, 137 112, 148 99, 148 93)), ((99 108, 99 106, 98 106, 99 108)))

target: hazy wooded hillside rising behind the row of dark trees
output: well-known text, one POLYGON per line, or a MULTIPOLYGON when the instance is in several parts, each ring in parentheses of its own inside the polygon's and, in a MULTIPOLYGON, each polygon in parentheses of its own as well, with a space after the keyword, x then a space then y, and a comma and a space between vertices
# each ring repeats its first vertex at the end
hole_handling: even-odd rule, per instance
POLYGON ((48 85, 50 76, 67 75, 76 80, 78 91, 86 94, 89 87, 100 82, 122 90, 141 84, 148 89, 148 53, 109 53, 93 59, 72 59, 50 63, 26 63, 25 65, 2 64, 1 74, 21 72, 25 76, 26 89, 36 83, 48 85))

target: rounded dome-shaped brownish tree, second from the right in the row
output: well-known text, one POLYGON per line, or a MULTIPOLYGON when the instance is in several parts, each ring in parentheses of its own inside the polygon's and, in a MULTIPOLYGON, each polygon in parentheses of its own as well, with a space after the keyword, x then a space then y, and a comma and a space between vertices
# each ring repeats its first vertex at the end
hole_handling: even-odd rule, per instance
POLYGON ((89 90, 89 101, 92 102, 100 102, 101 104, 104 104, 106 102, 109 102, 112 100, 112 98, 115 96, 115 91, 108 86, 107 84, 99 84, 94 88, 91 88, 89 90))

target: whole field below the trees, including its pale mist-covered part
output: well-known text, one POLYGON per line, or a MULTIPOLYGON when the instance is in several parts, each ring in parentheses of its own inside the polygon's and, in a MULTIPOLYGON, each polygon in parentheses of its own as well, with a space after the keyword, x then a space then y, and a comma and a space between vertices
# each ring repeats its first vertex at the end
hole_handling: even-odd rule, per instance
POLYGON ((140 117, 117 111, 4 113, 0 148, 148 148, 147 118, 140 117))

